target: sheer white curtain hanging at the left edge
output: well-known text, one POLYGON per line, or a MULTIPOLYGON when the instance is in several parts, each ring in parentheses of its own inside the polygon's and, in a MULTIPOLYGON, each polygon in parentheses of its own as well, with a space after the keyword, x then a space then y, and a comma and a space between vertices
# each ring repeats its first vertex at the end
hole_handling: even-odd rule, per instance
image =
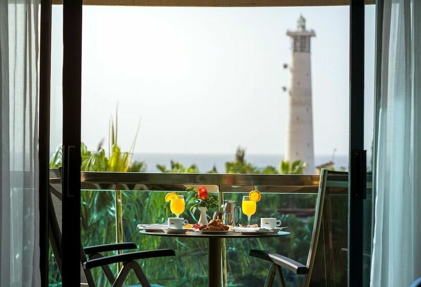
POLYGON ((37 0, 0 0, 0 286, 40 286, 37 0))

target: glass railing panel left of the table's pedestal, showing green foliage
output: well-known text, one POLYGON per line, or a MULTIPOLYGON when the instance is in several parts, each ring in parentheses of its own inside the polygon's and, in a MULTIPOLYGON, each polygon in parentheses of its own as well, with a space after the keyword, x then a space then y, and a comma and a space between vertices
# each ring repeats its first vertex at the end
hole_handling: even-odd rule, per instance
MULTIPOLYGON (((124 240, 135 242, 139 250, 173 249, 177 256, 143 260, 142 268, 151 283, 164 286, 206 286, 207 284, 207 239, 177 238, 143 235, 138 223, 163 223, 174 217, 165 203, 165 192, 122 191, 124 240)), ((177 192, 187 198, 187 193, 177 192)), ((188 211, 180 217, 196 223, 198 216, 188 211)), ((138 284, 130 275, 126 284, 138 284)))

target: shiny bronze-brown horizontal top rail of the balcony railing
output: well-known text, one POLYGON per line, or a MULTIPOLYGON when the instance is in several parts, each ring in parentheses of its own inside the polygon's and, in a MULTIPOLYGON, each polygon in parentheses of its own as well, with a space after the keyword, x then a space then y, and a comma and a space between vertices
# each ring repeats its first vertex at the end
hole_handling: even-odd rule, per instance
MULTIPOLYGON (((332 187, 347 188, 348 175, 329 176, 332 187)), ((82 172, 81 189, 184 191, 206 186, 209 192, 317 193, 318 175, 82 172)), ((50 185, 61 185, 58 170, 50 171, 50 185)), ((341 189, 336 189, 340 192, 341 189)))

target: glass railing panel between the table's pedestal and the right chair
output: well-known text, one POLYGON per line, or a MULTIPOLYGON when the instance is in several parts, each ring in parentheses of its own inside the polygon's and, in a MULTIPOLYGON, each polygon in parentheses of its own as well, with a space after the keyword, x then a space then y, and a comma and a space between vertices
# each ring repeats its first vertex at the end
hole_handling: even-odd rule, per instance
MULTIPOLYGON (((273 192, 282 192, 274 188, 273 192)), ((224 193, 224 199, 237 200, 241 205, 244 193, 224 193)), ((227 279, 232 286, 263 286, 270 263, 248 256, 251 249, 277 253, 305 264, 310 248, 317 194, 264 193, 257 203, 251 223, 260 226, 261 217, 275 217, 288 226, 289 236, 274 238, 227 239, 227 279)), ((246 224, 242 214, 240 223, 246 224)), ((299 286, 302 278, 285 273, 288 286, 299 286)))

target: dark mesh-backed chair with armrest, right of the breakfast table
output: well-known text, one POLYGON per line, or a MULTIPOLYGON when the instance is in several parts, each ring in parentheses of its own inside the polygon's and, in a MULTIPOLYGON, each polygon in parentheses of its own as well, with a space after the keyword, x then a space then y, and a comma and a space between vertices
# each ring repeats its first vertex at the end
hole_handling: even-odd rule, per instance
POLYGON ((304 287, 346 286, 347 241, 348 173, 322 169, 307 262, 262 250, 250 255, 273 263, 265 286, 272 286, 276 277, 285 286, 282 269, 303 275, 304 287))

